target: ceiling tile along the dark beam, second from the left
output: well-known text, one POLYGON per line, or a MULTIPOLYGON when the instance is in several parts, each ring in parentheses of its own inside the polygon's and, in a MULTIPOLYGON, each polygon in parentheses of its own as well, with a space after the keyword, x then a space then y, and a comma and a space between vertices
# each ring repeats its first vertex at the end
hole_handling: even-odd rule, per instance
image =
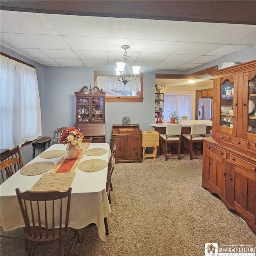
POLYGON ((104 18, 77 15, 44 14, 64 36, 105 37, 104 18))

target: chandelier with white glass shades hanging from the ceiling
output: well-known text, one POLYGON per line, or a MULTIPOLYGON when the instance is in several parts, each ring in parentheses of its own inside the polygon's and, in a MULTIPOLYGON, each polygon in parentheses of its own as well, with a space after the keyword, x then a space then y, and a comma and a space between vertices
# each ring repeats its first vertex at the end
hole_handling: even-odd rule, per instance
POLYGON ((132 72, 134 75, 139 74, 140 72, 140 66, 132 66, 132 72, 127 64, 127 58, 130 58, 130 56, 127 55, 126 50, 130 48, 128 45, 122 45, 122 49, 124 49, 124 55, 122 56, 122 59, 124 59, 124 62, 116 62, 116 75, 118 76, 118 81, 122 81, 124 85, 127 84, 127 82, 130 82, 132 80, 138 80, 137 76, 132 77, 132 72), (126 76, 126 68, 128 69, 129 73, 128 76, 126 76))

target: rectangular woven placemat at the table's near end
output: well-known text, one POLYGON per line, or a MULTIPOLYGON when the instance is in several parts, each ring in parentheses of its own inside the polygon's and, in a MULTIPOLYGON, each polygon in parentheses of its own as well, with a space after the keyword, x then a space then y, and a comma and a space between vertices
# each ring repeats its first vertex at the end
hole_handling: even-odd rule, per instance
POLYGON ((75 172, 68 173, 45 173, 42 177, 32 186, 30 190, 44 191, 44 190, 59 190, 66 191, 71 186, 75 172))

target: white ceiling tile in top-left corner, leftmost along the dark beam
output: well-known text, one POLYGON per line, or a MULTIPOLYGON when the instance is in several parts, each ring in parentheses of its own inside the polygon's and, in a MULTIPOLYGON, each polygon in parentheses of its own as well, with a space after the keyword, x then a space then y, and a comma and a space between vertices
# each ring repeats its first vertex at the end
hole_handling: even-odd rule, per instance
POLYGON ((58 34, 41 13, 1 10, 1 25, 19 34, 58 34))

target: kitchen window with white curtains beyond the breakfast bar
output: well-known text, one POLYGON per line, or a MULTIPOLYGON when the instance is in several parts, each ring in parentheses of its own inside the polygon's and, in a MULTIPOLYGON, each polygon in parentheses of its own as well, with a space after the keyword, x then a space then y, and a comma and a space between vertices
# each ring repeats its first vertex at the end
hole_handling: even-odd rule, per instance
POLYGON ((164 120, 169 120, 169 112, 176 111, 181 116, 188 116, 192 119, 192 95, 191 94, 164 94, 164 120))

